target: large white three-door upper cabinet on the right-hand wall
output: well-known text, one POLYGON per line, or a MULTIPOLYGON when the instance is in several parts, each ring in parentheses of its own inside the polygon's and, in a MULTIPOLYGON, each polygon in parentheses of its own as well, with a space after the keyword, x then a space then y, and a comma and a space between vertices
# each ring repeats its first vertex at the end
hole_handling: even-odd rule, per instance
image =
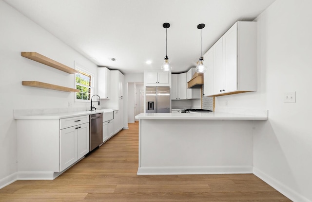
POLYGON ((236 22, 212 49, 207 56, 213 57, 213 62, 208 62, 213 66, 208 70, 213 71, 213 82, 211 75, 204 74, 204 96, 257 90, 257 22, 236 22))

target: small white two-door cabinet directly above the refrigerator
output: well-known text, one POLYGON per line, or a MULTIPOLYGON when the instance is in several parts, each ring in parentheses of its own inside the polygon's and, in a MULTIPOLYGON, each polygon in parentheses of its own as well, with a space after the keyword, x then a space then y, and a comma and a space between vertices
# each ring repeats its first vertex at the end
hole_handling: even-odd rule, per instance
POLYGON ((171 86, 171 71, 144 71, 145 86, 171 86))

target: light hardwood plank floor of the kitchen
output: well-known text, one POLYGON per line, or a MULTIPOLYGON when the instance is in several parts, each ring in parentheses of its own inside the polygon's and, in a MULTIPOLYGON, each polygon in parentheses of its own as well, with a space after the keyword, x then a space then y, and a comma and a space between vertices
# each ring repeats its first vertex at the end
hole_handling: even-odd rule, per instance
POLYGON ((0 202, 291 202, 253 174, 138 176, 138 123, 53 181, 17 181, 0 202))

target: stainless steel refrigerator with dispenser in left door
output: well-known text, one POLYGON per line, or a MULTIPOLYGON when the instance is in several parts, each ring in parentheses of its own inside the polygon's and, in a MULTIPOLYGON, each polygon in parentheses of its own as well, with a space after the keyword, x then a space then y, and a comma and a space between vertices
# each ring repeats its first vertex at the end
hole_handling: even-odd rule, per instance
POLYGON ((145 88, 147 113, 170 113, 170 87, 147 86, 145 88))

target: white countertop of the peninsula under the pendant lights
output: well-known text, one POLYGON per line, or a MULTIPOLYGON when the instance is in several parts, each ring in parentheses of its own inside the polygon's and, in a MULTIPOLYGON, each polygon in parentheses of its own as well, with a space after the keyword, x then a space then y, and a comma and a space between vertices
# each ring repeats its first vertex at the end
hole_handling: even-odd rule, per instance
POLYGON ((137 119, 197 119, 197 120, 268 120, 268 116, 253 116, 224 112, 192 112, 192 113, 141 113, 137 119))

